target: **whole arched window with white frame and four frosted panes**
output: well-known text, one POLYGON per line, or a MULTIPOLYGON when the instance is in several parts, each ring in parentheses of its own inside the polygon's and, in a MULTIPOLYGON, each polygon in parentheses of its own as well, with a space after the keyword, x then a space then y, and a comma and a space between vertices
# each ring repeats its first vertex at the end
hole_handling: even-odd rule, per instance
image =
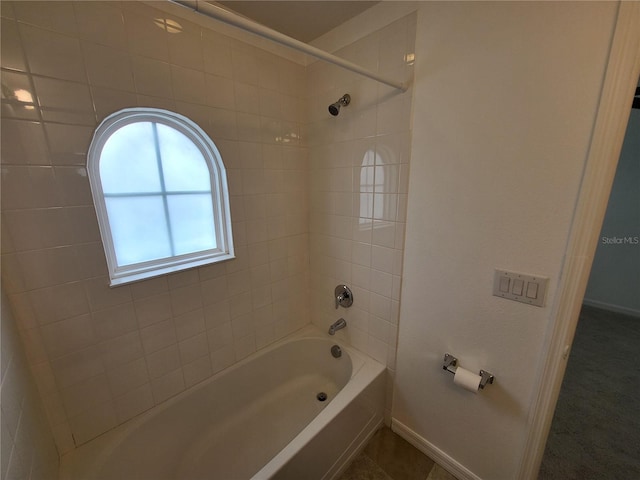
POLYGON ((188 118, 152 108, 110 115, 87 169, 111 285, 233 258, 222 158, 188 118))

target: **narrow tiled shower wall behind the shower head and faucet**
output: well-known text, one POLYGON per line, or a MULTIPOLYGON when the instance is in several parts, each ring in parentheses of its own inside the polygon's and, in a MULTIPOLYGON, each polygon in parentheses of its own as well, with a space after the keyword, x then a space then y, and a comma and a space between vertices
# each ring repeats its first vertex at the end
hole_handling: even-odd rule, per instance
MULTIPOLYGON (((409 86, 413 77, 415 14, 342 48, 336 54, 409 86)), ((395 370, 409 180, 411 99, 397 89, 317 62, 308 67, 311 312, 326 329, 387 365, 387 419, 395 370), (345 93, 337 117, 329 104, 345 93), (353 306, 335 308, 345 283, 353 306)))

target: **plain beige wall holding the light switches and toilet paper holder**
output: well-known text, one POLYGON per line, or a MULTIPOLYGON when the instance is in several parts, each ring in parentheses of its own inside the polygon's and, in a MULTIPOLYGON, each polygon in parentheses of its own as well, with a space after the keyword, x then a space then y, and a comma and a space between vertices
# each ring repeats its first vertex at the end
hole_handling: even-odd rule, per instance
POLYGON ((616 12, 418 12, 393 418, 459 478, 517 478, 616 12), (494 268, 548 276, 546 305, 492 296, 494 268), (495 384, 458 388, 445 353, 495 384))

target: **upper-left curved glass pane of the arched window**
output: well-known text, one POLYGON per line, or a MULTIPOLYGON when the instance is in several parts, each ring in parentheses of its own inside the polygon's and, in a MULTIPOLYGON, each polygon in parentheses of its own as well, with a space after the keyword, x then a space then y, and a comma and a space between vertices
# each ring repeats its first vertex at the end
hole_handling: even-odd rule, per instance
POLYGON ((161 191, 150 122, 130 123, 109 137, 100 154, 100 180, 105 194, 161 191))

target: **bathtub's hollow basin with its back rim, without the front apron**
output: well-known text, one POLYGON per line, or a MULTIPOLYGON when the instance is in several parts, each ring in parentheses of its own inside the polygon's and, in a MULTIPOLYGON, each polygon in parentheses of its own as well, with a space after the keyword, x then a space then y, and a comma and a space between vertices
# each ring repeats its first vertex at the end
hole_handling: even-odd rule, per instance
MULTIPOLYGON (((346 346, 342 357, 327 361, 336 342, 313 327, 295 339, 257 352, 63 457, 62 478, 196 479, 211 472, 251 478, 264 465, 278 469, 273 459, 305 426, 319 417, 327 421, 319 414, 367 361, 346 346), (324 402, 320 391, 328 396, 324 402)), ((292 447, 290 456, 295 452, 292 447)))

